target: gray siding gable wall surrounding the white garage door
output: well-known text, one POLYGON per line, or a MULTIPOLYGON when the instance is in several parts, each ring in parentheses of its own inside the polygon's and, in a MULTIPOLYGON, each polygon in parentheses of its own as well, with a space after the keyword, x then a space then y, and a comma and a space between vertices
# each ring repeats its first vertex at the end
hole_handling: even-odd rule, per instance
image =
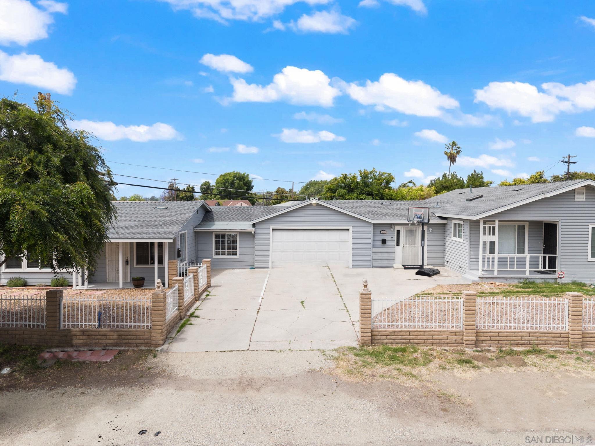
POLYGON ((258 222, 255 225, 254 263, 269 268, 270 227, 352 227, 352 266, 372 266, 372 224, 323 205, 306 205, 258 222))

